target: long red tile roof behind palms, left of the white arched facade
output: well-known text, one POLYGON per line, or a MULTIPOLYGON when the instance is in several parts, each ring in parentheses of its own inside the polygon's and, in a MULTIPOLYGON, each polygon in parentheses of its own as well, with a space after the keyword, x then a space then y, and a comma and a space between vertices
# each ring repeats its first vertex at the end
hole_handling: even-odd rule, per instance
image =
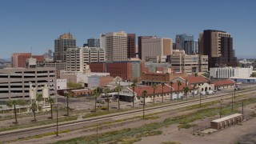
MULTIPOLYGON (((185 83, 182 82, 182 85, 179 86, 179 90, 183 90, 183 88, 186 86, 185 83)), ((193 86, 187 85, 187 87, 189 87, 190 90, 193 90, 193 86)), ((132 87, 129 87, 130 90, 133 90, 132 87)), ((153 95, 153 94, 162 94, 162 84, 158 84, 157 88, 154 89, 152 88, 152 86, 139 86, 139 87, 134 87, 134 92, 137 93, 137 96, 140 97, 142 96, 142 92, 146 90, 148 95, 153 95)), ((178 83, 174 82, 173 84, 173 89, 172 92, 178 91, 178 83)), ((165 83, 165 86, 163 86, 163 92, 164 93, 170 93, 170 83, 165 83)))

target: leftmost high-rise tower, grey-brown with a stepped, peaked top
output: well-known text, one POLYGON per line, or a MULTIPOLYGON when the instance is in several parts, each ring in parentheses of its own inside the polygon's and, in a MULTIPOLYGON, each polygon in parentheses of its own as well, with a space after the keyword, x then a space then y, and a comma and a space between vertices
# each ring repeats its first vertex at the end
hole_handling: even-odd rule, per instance
POLYGON ((54 61, 66 61, 66 50, 76 47, 76 39, 72 34, 62 34, 54 40, 54 61))

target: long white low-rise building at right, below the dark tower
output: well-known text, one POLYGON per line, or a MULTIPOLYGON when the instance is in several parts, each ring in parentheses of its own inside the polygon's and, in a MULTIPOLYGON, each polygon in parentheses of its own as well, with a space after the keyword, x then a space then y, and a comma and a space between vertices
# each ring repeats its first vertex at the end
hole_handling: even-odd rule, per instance
POLYGON ((210 78, 248 78, 253 73, 253 66, 243 67, 213 67, 210 68, 210 78))

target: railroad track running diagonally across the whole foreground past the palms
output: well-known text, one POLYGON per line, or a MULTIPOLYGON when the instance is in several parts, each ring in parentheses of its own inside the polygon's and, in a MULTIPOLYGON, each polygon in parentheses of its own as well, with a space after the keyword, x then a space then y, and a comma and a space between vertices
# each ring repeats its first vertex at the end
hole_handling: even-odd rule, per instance
MULTIPOLYGON (((242 95, 242 94, 252 94, 255 93, 256 89, 250 89, 250 90, 239 90, 236 91, 236 95, 242 95)), ((227 94, 218 94, 218 95, 209 95, 207 98, 201 98, 201 102, 205 103, 205 102, 212 102, 215 100, 220 100, 222 99, 226 99, 226 98, 231 98, 231 94, 233 94, 233 92, 227 93, 227 94)), ((192 106, 195 104, 199 103, 199 98, 194 98, 194 99, 190 99, 190 100, 184 100, 182 102, 174 102, 174 103, 170 103, 170 104, 166 104, 166 105, 162 105, 162 106, 152 106, 152 107, 147 107, 145 109, 146 113, 150 113, 150 112, 154 112, 156 110, 168 110, 168 109, 172 109, 172 108, 177 108, 177 106, 181 106, 181 107, 185 107, 185 106, 192 106)), ((79 121, 75 121, 75 122, 65 122, 65 123, 60 123, 58 125, 59 128, 61 127, 67 127, 67 126, 74 126, 74 125, 78 125, 78 124, 82 124, 82 123, 86 123, 86 122, 97 122, 97 121, 101 121, 101 120, 106 120, 106 119, 110 119, 110 118, 120 118, 121 116, 128 116, 128 115, 134 115, 134 114, 141 114, 143 110, 130 110, 130 111, 126 111, 126 112, 121 112, 121 113, 117 113, 117 114, 108 114, 105 116, 98 116, 98 117, 94 117, 94 118, 86 118, 83 120, 79 120, 79 121)), ((38 127, 34 127, 34 128, 30 128, 30 129, 26 129, 26 130, 13 130, 13 131, 6 131, 6 132, 2 132, 0 133, 0 139, 1 137, 6 137, 8 135, 13 135, 13 134, 29 134, 32 132, 36 132, 36 131, 40 131, 40 130, 51 130, 55 128, 55 124, 51 124, 51 125, 47 125, 47 126, 38 126, 38 127)))

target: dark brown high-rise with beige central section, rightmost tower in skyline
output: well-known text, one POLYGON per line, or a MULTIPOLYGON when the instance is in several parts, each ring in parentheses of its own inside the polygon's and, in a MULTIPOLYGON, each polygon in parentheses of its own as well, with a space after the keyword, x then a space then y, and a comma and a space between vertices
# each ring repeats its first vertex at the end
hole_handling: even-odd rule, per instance
POLYGON ((218 66, 238 66, 234 57, 233 38, 226 31, 204 30, 199 34, 199 54, 209 57, 209 68, 218 66))

